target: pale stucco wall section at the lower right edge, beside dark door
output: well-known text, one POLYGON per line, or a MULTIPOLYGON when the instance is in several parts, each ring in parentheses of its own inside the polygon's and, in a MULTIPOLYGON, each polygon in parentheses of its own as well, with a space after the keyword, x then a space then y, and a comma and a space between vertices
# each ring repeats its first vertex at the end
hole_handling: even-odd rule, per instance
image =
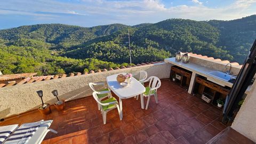
POLYGON ((231 127, 256 142, 256 82, 252 85, 231 127))

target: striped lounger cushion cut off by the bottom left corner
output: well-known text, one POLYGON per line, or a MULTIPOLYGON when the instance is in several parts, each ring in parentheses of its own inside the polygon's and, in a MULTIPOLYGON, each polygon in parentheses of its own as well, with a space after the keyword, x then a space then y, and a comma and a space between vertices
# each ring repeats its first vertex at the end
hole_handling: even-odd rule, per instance
POLYGON ((3 143, 17 128, 18 124, 0 126, 0 144, 3 143))

